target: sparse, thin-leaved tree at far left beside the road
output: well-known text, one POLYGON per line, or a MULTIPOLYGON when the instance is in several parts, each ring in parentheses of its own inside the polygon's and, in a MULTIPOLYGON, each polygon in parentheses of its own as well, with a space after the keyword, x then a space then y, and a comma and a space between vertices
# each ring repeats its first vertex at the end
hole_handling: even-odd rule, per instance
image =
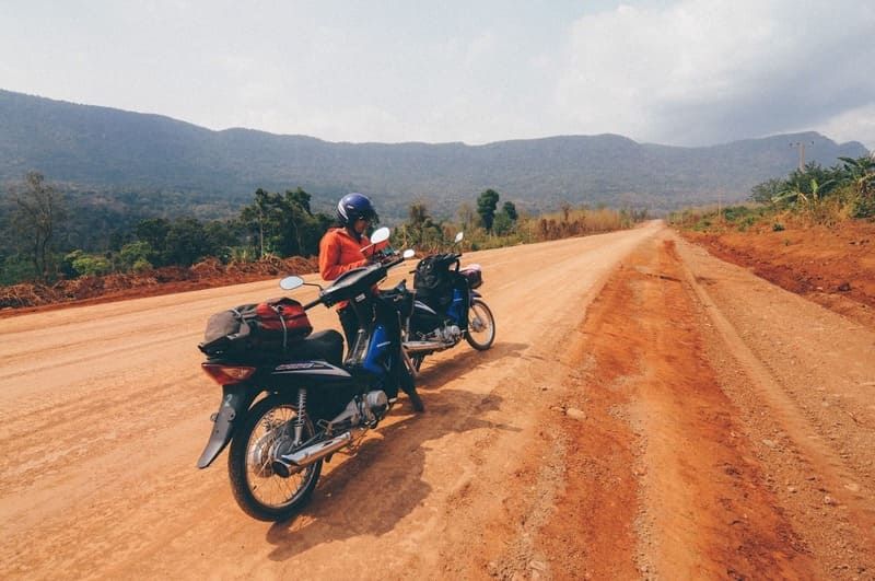
POLYGON ((28 172, 23 188, 13 188, 15 213, 12 226, 19 240, 26 241, 37 277, 46 280, 52 236, 65 214, 63 196, 38 172, 28 172))

